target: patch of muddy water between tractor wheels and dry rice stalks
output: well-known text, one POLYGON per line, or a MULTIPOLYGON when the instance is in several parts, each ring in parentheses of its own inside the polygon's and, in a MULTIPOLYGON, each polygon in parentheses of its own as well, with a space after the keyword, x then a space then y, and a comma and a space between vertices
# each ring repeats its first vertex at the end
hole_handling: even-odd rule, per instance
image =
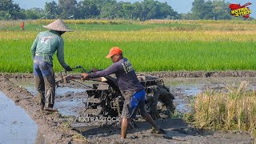
POLYGON ((190 101, 197 94, 206 90, 226 91, 227 86, 236 88, 243 81, 248 82, 247 90, 255 90, 256 78, 254 77, 164 78, 166 86, 169 86, 170 92, 175 96, 176 110, 181 113, 190 112, 190 101))

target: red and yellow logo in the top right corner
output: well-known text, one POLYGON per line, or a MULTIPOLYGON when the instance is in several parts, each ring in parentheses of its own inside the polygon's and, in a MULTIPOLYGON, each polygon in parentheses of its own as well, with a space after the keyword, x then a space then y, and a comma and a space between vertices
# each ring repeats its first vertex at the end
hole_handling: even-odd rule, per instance
POLYGON ((251 14, 251 10, 249 6, 251 5, 250 2, 247 2, 246 4, 240 6, 239 4, 230 4, 230 14, 235 16, 235 17, 239 17, 242 16, 243 18, 250 18, 250 14, 251 14))

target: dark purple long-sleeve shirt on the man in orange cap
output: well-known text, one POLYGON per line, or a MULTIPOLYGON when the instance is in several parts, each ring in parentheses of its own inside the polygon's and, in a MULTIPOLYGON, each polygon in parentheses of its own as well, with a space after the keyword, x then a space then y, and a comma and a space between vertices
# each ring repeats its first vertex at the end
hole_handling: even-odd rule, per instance
POLYGON ((133 90, 137 92, 144 89, 142 84, 138 81, 134 68, 127 58, 122 58, 118 62, 114 62, 105 70, 89 74, 89 78, 104 77, 109 74, 116 75, 120 90, 133 90))

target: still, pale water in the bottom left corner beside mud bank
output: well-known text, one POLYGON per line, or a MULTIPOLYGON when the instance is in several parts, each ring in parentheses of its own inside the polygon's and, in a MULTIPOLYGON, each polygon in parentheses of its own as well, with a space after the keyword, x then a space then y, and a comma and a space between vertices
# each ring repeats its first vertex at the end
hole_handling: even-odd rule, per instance
POLYGON ((0 91, 0 143, 34 143, 38 125, 0 91))

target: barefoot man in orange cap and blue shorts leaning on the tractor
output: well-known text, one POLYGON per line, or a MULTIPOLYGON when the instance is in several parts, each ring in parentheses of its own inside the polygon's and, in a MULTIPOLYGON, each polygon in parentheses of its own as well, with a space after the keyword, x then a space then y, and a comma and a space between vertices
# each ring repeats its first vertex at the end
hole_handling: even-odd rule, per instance
POLYGON ((106 58, 111 58, 114 62, 106 70, 97 71, 91 74, 82 74, 82 79, 104 77, 109 74, 116 74, 119 89, 125 98, 125 102, 122 108, 122 130, 121 139, 126 138, 127 127, 130 118, 136 116, 136 112, 139 109, 146 122, 149 122, 153 126, 153 133, 164 134, 164 130, 158 128, 155 125, 150 114, 146 113, 144 108, 146 91, 142 84, 138 81, 134 68, 127 58, 123 58, 122 50, 119 47, 113 47, 110 49, 110 53, 106 58))

